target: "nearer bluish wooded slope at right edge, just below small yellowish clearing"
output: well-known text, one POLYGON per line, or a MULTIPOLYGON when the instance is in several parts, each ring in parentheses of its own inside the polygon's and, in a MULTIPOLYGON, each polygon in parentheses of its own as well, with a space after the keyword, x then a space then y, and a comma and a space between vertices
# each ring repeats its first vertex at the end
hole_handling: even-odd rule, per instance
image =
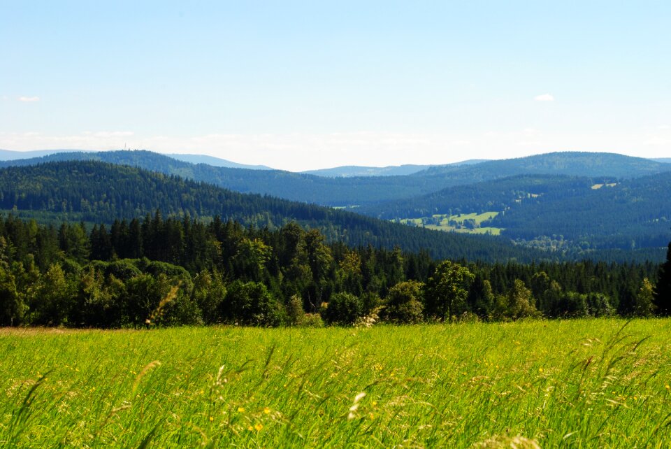
POLYGON ((661 248, 671 235, 671 172, 600 188, 553 190, 515 204, 493 225, 512 238, 562 235, 591 248, 661 248))

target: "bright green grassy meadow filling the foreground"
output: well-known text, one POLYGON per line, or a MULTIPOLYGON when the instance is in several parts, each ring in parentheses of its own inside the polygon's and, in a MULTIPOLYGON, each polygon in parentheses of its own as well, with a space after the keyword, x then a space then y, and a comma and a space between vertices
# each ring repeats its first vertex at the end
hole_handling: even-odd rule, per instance
POLYGON ((668 448, 670 332, 6 329, 0 446, 668 448))

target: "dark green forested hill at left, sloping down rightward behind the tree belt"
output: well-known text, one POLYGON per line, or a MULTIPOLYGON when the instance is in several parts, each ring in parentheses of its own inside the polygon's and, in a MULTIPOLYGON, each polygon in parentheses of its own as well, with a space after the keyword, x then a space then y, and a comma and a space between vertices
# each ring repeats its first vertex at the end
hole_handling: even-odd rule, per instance
POLYGON ((42 221, 112 222, 189 214, 205 220, 219 215, 257 227, 291 220, 322 230, 348 245, 427 250, 438 259, 505 261, 547 257, 489 236, 461 236, 394 224, 363 215, 257 194, 240 194, 177 176, 103 162, 50 162, 0 169, 0 209, 42 221))

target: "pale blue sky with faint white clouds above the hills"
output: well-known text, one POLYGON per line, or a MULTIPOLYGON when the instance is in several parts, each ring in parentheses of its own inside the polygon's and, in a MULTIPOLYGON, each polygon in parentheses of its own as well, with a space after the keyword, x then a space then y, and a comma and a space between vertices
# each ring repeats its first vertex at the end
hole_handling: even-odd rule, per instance
POLYGON ((671 157, 670 1, 0 0, 0 148, 671 157))

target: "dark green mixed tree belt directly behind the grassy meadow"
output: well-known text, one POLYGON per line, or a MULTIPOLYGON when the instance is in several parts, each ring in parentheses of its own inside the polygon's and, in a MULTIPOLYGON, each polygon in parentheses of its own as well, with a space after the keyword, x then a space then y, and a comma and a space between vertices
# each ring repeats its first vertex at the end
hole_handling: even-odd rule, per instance
POLYGON ((486 263, 349 247, 296 222, 160 210, 87 227, 0 219, 0 325, 351 325, 671 313, 665 264, 486 263))

